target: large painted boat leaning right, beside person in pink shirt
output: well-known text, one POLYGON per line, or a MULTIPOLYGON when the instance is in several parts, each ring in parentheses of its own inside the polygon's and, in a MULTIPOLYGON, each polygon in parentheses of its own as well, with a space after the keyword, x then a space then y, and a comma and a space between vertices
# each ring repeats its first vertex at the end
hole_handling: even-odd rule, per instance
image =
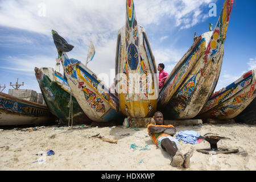
POLYGON ((213 31, 199 36, 168 76, 158 106, 165 119, 195 117, 220 76, 224 42, 233 1, 226 0, 213 31))

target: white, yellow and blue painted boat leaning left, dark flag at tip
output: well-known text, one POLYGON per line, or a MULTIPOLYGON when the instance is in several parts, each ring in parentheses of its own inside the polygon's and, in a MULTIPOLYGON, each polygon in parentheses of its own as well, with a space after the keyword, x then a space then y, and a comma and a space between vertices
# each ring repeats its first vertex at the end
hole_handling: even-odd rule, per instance
MULTIPOLYGON (((61 38, 56 31, 52 30, 53 40, 57 48, 64 74, 80 107, 88 118, 95 122, 109 122, 122 118, 118 113, 118 99, 102 84, 90 69, 84 66, 79 60, 69 59, 64 52, 63 45, 59 46, 57 39, 61 38)), ((64 47, 71 47, 63 38, 64 47)), ((71 48, 72 49, 72 48, 71 48)), ((68 48, 67 51, 70 51, 68 48)))

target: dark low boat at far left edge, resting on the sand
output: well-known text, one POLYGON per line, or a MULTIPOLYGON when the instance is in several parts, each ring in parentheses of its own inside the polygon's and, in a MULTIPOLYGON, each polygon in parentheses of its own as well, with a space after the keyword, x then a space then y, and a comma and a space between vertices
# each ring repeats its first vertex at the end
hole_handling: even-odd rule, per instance
POLYGON ((0 126, 50 123, 55 119, 46 105, 0 92, 0 126))

